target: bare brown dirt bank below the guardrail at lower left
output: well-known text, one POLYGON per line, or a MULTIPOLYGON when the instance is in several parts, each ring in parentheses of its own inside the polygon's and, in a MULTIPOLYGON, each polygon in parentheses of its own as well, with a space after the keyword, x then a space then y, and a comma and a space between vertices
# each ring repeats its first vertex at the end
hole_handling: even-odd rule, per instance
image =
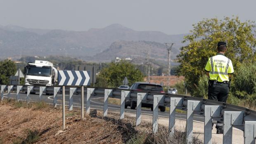
POLYGON ((99 111, 97 116, 80 120, 77 109, 66 110, 66 130, 62 132, 61 108, 47 106, 37 110, 36 106, 19 108, 16 105, 10 102, 0 105, 0 144, 24 143, 29 130, 38 130, 40 139, 36 144, 123 144, 139 129, 151 128, 149 123, 142 123, 135 130, 134 120, 118 120, 115 113, 102 118, 99 111))

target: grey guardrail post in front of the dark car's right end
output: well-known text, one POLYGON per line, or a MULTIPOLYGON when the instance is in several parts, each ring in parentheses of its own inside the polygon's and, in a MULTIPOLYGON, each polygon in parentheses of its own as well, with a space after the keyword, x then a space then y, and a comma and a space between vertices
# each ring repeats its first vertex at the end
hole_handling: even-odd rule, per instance
POLYGON ((164 103, 164 95, 154 95, 153 96, 153 123, 152 132, 156 133, 158 130, 158 105, 159 103, 164 103))

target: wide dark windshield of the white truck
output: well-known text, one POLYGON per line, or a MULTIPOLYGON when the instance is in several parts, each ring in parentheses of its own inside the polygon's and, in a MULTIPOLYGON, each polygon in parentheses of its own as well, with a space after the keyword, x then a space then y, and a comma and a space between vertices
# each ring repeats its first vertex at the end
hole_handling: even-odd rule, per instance
POLYGON ((27 75, 32 76, 51 76, 51 68, 28 67, 27 75))

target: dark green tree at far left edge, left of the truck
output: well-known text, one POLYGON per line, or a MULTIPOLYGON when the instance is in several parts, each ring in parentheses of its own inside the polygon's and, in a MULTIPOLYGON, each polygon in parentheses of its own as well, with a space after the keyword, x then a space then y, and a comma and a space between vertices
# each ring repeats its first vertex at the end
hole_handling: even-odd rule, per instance
POLYGON ((17 71, 16 64, 8 59, 0 61, 0 84, 8 85, 9 77, 17 71))

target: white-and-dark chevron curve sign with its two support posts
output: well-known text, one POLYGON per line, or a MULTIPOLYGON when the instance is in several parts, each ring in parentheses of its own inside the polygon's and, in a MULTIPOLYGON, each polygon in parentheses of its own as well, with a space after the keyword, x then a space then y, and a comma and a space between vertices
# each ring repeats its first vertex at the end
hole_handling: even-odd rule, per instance
POLYGON ((87 71, 58 71, 58 85, 62 85, 62 120, 65 130, 65 86, 82 86, 81 93, 81 118, 83 119, 83 86, 90 85, 90 77, 87 71))

